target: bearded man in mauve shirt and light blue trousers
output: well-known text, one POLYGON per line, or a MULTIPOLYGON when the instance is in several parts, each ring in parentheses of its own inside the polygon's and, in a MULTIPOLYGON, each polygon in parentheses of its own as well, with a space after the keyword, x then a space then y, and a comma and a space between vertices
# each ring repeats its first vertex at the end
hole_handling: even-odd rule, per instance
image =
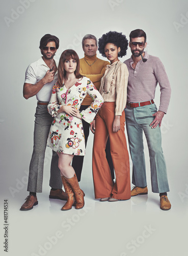
POLYGON ((169 210, 167 169, 162 150, 160 126, 167 113, 171 88, 163 63, 159 58, 144 52, 146 33, 141 29, 131 31, 129 47, 132 56, 125 60, 129 77, 125 108, 126 129, 132 158, 131 196, 148 194, 143 146, 145 133, 151 169, 152 192, 159 193, 160 209, 169 210), (155 89, 159 83, 160 105, 154 104, 155 89))

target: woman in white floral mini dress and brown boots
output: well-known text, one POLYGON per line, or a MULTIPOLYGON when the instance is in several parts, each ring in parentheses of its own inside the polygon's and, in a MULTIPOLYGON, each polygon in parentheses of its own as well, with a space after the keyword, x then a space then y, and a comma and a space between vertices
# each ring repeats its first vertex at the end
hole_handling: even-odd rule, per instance
POLYGON ((47 146, 59 156, 62 182, 68 196, 62 210, 84 207, 84 192, 79 188, 77 177, 70 165, 74 155, 85 155, 85 138, 82 119, 91 123, 103 103, 98 90, 89 78, 79 74, 79 58, 75 51, 65 50, 58 66, 58 81, 52 89, 48 112, 54 117, 47 146), (79 113, 87 93, 92 104, 79 113))

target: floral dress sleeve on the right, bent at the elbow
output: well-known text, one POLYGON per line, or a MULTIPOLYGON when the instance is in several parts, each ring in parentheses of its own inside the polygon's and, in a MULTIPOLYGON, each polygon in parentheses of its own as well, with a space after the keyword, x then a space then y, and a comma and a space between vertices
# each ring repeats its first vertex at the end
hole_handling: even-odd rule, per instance
POLYGON ((103 104, 103 98, 90 79, 87 80, 87 94, 93 99, 91 105, 80 112, 82 119, 91 123, 103 104))

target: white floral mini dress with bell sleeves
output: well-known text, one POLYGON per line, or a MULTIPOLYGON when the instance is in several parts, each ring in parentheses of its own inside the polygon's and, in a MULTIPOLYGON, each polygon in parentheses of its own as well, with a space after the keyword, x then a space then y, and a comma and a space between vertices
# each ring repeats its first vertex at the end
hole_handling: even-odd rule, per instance
POLYGON ((58 82, 52 88, 52 94, 47 106, 48 112, 54 117, 50 127, 47 146, 53 151, 68 155, 85 155, 85 138, 82 119, 69 116, 65 112, 58 113, 62 105, 73 105, 79 110, 86 95, 89 94, 93 102, 80 112, 82 119, 91 123, 100 109, 103 98, 87 77, 82 77, 70 88, 62 87, 58 82))

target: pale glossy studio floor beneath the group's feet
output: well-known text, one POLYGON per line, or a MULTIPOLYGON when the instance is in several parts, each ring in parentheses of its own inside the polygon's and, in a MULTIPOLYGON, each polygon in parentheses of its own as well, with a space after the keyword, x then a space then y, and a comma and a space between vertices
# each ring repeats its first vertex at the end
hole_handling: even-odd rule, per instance
POLYGON ((48 178, 46 173, 39 204, 32 210, 19 210, 28 195, 26 185, 9 199, 9 255, 187 255, 186 191, 168 194, 168 211, 160 210, 150 184, 148 195, 100 202, 94 199, 92 174, 85 168, 80 182, 84 208, 61 211, 65 201, 48 198, 48 178))

